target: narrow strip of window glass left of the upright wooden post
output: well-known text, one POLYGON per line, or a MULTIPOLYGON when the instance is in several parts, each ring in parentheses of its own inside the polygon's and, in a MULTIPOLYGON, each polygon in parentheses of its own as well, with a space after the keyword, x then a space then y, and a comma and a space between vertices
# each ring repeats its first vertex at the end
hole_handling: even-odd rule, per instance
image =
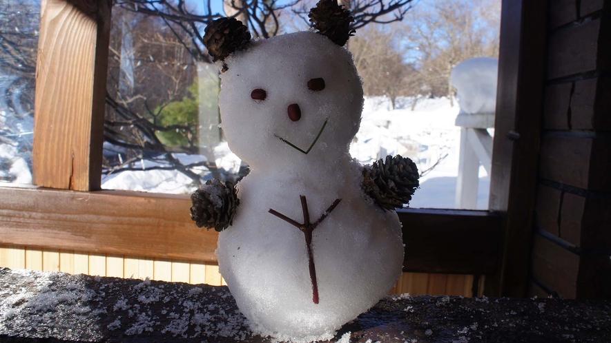
POLYGON ((0 182, 32 183, 40 1, 0 1, 0 182))

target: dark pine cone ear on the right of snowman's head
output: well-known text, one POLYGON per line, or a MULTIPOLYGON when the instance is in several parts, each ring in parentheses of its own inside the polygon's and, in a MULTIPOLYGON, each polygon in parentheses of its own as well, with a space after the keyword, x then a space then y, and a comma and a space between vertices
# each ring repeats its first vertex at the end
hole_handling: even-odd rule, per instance
POLYGON ((339 6, 337 0, 320 0, 308 14, 313 28, 318 33, 329 37, 333 43, 344 46, 355 30, 350 30, 354 18, 344 6, 339 6))

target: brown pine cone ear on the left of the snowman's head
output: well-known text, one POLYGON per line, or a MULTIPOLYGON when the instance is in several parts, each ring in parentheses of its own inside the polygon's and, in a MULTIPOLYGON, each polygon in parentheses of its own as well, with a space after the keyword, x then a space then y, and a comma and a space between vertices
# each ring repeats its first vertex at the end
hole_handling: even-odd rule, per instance
MULTIPOLYGON (((206 26, 204 44, 212 61, 224 59, 237 50, 244 50, 251 41, 251 32, 246 25, 235 18, 219 18, 206 26)), ((222 72, 229 67, 223 63, 222 72)))

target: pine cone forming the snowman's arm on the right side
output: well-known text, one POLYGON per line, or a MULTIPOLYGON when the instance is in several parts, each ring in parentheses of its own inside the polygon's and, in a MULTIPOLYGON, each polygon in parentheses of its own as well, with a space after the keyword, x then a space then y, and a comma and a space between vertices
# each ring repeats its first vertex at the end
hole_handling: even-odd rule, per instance
POLYGON ((362 189, 382 209, 394 210, 409 204, 420 186, 418 167, 410 158, 386 156, 362 169, 362 189))

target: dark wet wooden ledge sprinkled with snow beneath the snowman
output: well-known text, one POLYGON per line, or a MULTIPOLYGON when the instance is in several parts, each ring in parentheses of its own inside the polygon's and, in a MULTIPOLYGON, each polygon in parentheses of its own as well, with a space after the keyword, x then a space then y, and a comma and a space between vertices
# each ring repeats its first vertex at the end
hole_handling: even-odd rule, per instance
MULTIPOLYGON (((251 333, 226 287, 206 284, 0 268, 0 310, 2 342, 271 342, 251 333)), ((342 337, 611 342, 611 302, 388 296, 331 342, 342 337)))

